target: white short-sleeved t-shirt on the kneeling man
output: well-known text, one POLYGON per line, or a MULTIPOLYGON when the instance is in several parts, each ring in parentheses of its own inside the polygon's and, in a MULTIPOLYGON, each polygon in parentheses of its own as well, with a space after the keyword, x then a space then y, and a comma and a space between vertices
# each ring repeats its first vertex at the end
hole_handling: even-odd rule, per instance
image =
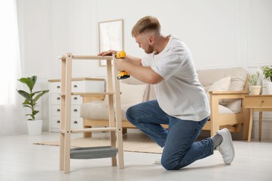
POLYGON ((175 36, 160 54, 147 54, 142 65, 164 78, 154 85, 160 108, 169 116, 200 121, 210 115, 209 100, 200 84, 188 47, 175 36))

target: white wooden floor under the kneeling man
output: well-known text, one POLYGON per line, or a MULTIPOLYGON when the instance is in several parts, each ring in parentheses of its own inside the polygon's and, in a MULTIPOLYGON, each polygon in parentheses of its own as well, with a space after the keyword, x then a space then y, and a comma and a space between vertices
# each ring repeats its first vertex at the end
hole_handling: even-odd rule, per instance
MULTIPOLYGON (((81 136, 81 135, 75 135, 81 136)), ((54 141, 59 134, 0 136, 0 180, 272 180, 272 140, 234 141, 236 157, 223 164, 218 151, 179 171, 153 164, 159 154, 124 152, 125 168, 111 166, 109 158, 71 160, 70 173, 59 171, 59 147, 33 145, 54 141)))

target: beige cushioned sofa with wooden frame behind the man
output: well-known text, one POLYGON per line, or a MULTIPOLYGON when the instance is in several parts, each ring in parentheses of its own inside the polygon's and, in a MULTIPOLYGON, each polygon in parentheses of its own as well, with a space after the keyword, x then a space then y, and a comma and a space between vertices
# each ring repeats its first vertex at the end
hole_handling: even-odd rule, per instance
MULTIPOLYGON (((211 105, 211 116, 204 125, 211 136, 219 129, 227 127, 231 132, 243 132, 243 139, 248 138, 249 111, 245 109, 245 95, 248 95, 248 72, 243 68, 216 68, 197 70, 201 82, 211 105)), ((153 85, 144 84, 130 77, 120 82, 121 114, 123 134, 128 128, 135 128, 126 119, 126 110, 140 102, 156 99, 153 85)), ((84 97, 83 97, 84 100, 84 97)), ((96 101, 84 101, 80 109, 85 128, 107 127, 108 110, 107 97, 96 101)), ((167 125, 162 125, 166 129, 167 125)), ((84 137, 91 133, 84 133, 84 137)))

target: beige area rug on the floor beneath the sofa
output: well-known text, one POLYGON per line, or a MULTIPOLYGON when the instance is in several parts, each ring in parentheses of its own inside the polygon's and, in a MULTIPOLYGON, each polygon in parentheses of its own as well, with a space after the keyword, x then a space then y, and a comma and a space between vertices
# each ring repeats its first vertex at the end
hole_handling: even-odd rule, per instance
MULTIPOLYGON (((33 143, 37 145, 56 145, 59 146, 59 141, 45 141, 33 143)), ((79 138, 71 139, 71 147, 86 148, 109 145, 108 138, 79 138)), ((123 135, 123 150, 126 152, 146 152, 146 153, 162 153, 163 148, 160 148, 145 134, 125 134, 123 135)))

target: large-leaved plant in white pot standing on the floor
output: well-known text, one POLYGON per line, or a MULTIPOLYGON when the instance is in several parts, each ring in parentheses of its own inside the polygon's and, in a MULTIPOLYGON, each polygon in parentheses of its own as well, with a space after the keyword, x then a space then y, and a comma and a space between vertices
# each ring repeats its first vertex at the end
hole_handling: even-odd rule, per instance
POLYGON ((35 117, 36 114, 39 112, 38 110, 36 110, 36 107, 38 107, 37 101, 41 96, 49 92, 49 90, 33 92, 36 80, 36 76, 18 79, 18 81, 26 84, 29 88, 28 92, 23 90, 17 90, 17 92, 25 98, 24 102, 22 103, 23 107, 27 107, 30 109, 30 113, 26 114, 26 116, 30 116, 27 121, 27 128, 29 134, 40 134, 42 132, 43 120, 36 120, 35 117))

